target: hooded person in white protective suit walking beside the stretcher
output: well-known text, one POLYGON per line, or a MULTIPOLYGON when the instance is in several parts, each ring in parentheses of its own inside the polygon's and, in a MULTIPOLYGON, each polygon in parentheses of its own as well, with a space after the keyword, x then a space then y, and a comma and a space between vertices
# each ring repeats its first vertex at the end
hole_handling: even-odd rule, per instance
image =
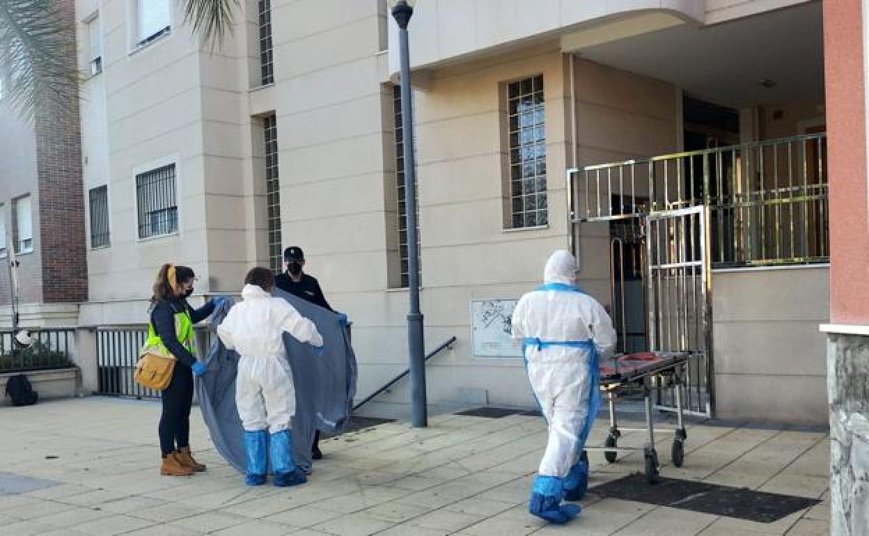
POLYGON ((547 261, 541 288, 522 296, 513 314, 514 339, 522 341, 528 380, 548 427, 528 510, 552 523, 567 523, 588 486, 582 457, 600 406, 598 357, 612 354, 615 329, 609 314, 576 286, 576 260, 565 250, 547 261))

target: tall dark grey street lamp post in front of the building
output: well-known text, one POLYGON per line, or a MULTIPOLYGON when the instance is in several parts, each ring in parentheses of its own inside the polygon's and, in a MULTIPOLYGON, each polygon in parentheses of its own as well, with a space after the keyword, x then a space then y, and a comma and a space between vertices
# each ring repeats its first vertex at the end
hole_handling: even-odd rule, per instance
POLYGON ((410 353, 410 400, 415 428, 428 426, 426 407, 426 360, 420 312, 419 242, 416 230, 416 174, 414 158, 414 120, 410 94, 410 51, 408 23, 414 14, 413 0, 392 0, 392 16, 398 23, 401 61, 401 132, 404 150, 404 207, 408 218, 408 349, 410 353))

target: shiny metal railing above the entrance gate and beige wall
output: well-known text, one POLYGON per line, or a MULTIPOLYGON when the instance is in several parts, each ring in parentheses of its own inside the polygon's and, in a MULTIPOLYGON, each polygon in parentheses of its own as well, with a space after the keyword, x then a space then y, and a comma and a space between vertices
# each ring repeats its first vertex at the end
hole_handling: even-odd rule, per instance
POLYGON ((706 205, 716 268, 829 261, 826 134, 587 166, 568 180, 571 223, 706 205))

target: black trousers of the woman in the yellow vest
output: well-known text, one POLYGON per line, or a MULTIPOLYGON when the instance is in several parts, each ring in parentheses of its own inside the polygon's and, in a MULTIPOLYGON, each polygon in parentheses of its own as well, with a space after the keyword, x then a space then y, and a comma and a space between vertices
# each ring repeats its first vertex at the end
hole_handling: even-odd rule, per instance
POLYGON ((163 391, 163 414, 158 428, 163 456, 175 452, 176 448, 189 447, 192 405, 193 371, 176 362, 169 387, 163 391))

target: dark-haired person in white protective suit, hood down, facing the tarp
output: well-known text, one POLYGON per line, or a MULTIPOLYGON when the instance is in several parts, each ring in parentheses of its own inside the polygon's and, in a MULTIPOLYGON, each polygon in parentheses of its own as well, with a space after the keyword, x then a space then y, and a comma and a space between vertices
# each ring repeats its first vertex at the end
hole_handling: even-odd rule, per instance
POLYGON ((319 355, 322 336, 314 322, 288 301, 269 294, 275 287, 269 268, 252 268, 244 283, 242 302, 229 309, 217 328, 223 345, 241 356, 235 406, 244 427, 244 481, 248 486, 264 484, 270 458, 275 486, 304 484, 307 478, 293 459, 289 427, 295 414, 295 389, 283 333, 310 343, 319 355))

